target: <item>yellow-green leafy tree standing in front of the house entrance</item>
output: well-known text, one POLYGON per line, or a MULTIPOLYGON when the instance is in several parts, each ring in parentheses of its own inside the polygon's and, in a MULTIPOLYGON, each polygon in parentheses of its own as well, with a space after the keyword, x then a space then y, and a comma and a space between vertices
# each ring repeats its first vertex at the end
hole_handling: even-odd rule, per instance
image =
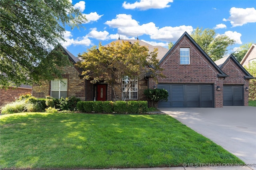
MULTIPOLYGON (((130 88, 138 83, 140 78, 150 73, 156 75, 158 66, 157 50, 149 53, 148 47, 139 45, 139 42, 113 41, 107 46, 101 43, 91 47, 79 57, 82 62, 78 65, 84 69, 83 75, 86 80, 96 84, 105 82, 122 92, 122 100, 126 100, 130 88)), ((114 96, 116 98, 116 90, 114 96)))

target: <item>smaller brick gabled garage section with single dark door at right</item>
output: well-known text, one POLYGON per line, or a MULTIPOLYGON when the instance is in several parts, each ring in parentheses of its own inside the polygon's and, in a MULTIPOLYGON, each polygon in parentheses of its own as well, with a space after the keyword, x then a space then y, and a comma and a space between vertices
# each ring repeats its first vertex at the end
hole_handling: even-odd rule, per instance
POLYGON ((223 80, 223 106, 248 106, 250 73, 233 55, 223 57, 215 63, 228 77, 223 80))

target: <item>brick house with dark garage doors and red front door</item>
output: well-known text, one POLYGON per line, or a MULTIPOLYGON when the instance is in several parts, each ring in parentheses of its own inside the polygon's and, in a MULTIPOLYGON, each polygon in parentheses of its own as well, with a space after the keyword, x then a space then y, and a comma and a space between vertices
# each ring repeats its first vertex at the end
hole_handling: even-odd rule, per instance
MULTIPOLYGON (((148 46, 149 51, 156 48, 140 40, 124 41, 131 43, 139 41, 140 45, 148 46)), ((80 60, 65 48, 62 47, 62 49, 73 64, 73 66, 62 68, 65 72, 62 75, 62 81, 66 83, 56 78, 50 82, 42 81, 41 86, 34 84, 33 96, 38 98, 76 96, 85 101, 114 100, 111 84, 91 84, 89 80, 84 80, 81 75, 82 69, 75 65, 80 60)), ((164 68, 161 73, 165 77, 156 77, 158 84, 149 74, 140 80, 136 79, 131 85, 129 100, 147 100, 143 94, 144 89, 156 87, 164 88, 169 93, 168 101, 158 102, 158 107, 223 107, 228 105, 225 100, 226 96, 224 96, 226 87, 232 85, 227 88, 227 91, 230 88, 233 90, 234 86, 239 86, 240 90, 242 89, 240 91, 242 101, 240 100, 239 105, 248 106, 248 92, 245 89, 248 87, 248 79, 253 77, 234 57, 229 57, 227 61, 223 59, 222 70, 185 32, 170 50, 158 47, 158 59, 160 60, 159 66, 164 68)), ((126 82, 124 78, 123 87, 127 85, 126 82)), ((121 99, 121 92, 117 96, 121 99)), ((235 100, 232 102, 236 103, 235 100)))

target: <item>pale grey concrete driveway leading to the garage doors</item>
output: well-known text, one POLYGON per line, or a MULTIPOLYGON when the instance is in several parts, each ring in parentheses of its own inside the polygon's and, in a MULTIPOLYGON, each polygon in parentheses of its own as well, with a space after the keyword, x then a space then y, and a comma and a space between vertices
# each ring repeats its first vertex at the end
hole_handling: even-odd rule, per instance
POLYGON ((159 108, 256 170, 256 107, 159 108))

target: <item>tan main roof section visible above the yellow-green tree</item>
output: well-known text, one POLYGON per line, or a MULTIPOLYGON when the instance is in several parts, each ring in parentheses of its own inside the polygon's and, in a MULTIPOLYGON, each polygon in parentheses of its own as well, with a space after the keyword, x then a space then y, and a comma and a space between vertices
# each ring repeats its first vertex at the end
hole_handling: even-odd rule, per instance
MULTIPOLYGON (((157 54, 157 59, 160 61, 163 57, 164 57, 164 55, 168 52, 168 49, 166 49, 166 48, 164 48, 164 47, 162 47, 162 46, 155 46, 155 45, 150 45, 150 44, 148 44, 148 43, 146 43, 146 42, 144 42, 144 41, 141 41, 141 40, 139 40, 139 39, 117 39, 117 40, 115 40, 115 41, 112 41, 112 42, 122 42, 122 41, 129 41, 129 42, 131 42, 131 43, 135 43, 135 42, 139 42, 139 45, 141 45, 141 46, 146 46, 146 47, 148 47, 148 52, 150 53, 150 52, 153 52, 154 51, 154 49, 155 48, 158 48, 158 54, 157 54)), ((106 44, 106 45, 104 45, 104 47, 106 47, 106 46, 108 46, 110 43, 108 43, 108 44, 106 44)))

